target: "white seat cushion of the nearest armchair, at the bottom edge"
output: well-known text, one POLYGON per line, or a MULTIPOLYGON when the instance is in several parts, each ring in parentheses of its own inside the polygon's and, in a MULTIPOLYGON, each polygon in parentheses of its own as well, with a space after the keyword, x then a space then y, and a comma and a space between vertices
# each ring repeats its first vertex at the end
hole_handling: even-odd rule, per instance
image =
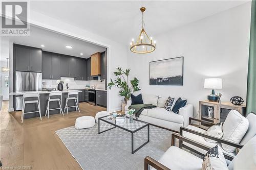
POLYGON ((158 162, 170 169, 201 170, 203 160, 178 147, 172 146, 163 154, 158 162))

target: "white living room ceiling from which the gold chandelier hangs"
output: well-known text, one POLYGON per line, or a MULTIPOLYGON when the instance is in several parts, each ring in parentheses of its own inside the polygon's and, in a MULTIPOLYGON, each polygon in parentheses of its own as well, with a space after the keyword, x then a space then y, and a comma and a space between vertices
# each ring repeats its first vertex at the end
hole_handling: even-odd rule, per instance
POLYGON ((249 1, 33 1, 31 10, 129 44, 141 29, 157 35, 249 1))

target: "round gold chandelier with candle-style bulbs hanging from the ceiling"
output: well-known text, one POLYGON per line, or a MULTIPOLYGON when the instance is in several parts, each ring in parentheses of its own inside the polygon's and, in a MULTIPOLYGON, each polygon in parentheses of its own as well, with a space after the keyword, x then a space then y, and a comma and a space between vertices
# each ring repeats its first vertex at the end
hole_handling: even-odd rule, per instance
POLYGON ((156 41, 153 41, 152 37, 148 37, 144 26, 144 15, 143 12, 146 10, 145 7, 141 7, 140 11, 142 12, 142 29, 140 31, 139 37, 137 38, 136 41, 132 39, 131 47, 130 50, 134 53, 139 53, 139 54, 146 54, 146 53, 151 53, 154 50, 156 50, 156 41))

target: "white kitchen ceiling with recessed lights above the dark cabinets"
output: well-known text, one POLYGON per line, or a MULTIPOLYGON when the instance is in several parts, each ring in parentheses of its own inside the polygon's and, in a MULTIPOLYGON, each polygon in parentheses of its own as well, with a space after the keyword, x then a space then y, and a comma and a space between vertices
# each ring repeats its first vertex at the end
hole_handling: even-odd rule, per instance
MULTIPOLYGON (((13 43, 42 48, 44 51, 89 58, 92 54, 105 51, 105 48, 86 41, 58 34, 52 31, 30 26, 30 36, 9 36, 13 43), (41 44, 45 47, 41 47, 41 44), (73 46, 68 49, 65 45, 73 46), (83 53, 81 56, 80 53, 83 53)), ((2 43, 2 45, 4 45, 2 43)), ((4 46, 2 46, 4 47, 4 46)))

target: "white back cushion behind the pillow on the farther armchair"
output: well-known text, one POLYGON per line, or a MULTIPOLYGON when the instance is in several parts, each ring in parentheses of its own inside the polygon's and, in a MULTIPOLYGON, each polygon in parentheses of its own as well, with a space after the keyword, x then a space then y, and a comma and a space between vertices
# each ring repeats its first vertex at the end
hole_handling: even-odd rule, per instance
POLYGON ((244 135, 244 138, 240 142, 240 144, 243 145, 245 145, 245 143, 247 143, 253 136, 256 135, 256 114, 250 113, 246 116, 246 118, 249 121, 249 127, 246 134, 244 135))

